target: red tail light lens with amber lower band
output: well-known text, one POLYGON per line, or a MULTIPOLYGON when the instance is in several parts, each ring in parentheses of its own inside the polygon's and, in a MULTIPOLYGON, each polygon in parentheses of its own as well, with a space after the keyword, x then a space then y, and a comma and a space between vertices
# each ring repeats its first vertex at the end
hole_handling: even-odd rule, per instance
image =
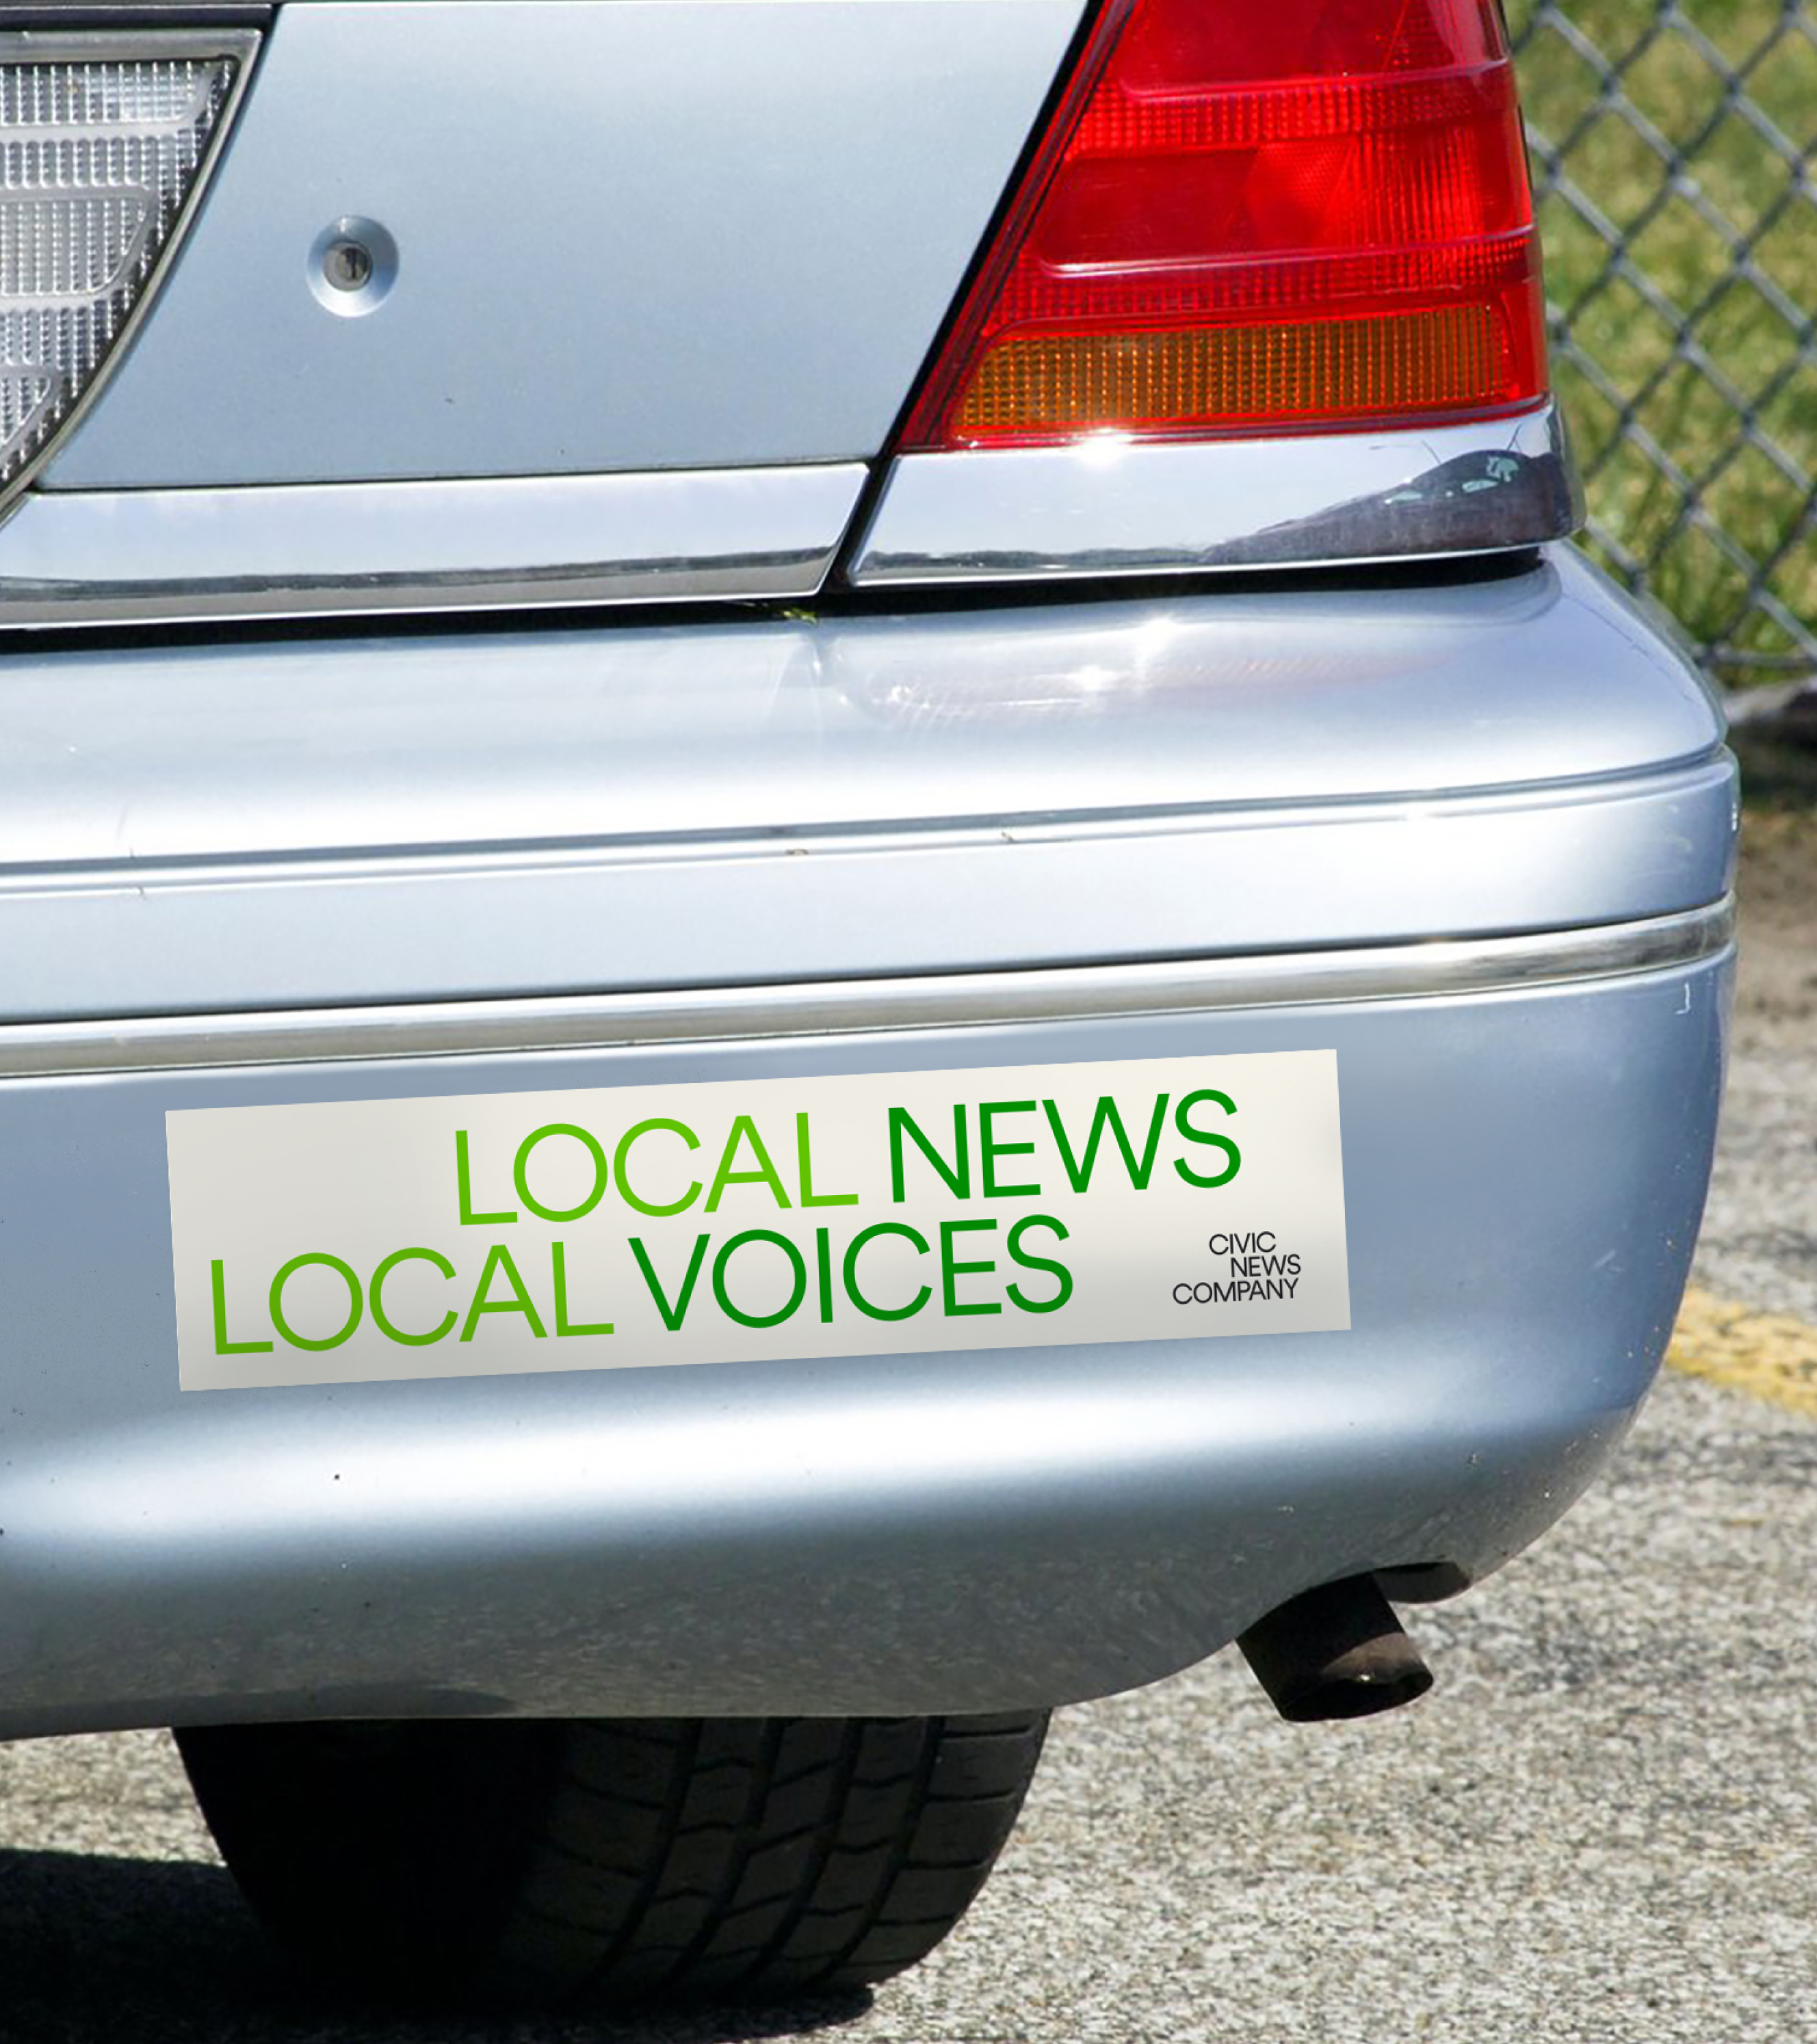
POLYGON ((1545 397, 1494 0, 1110 0, 903 448, 1545 397))

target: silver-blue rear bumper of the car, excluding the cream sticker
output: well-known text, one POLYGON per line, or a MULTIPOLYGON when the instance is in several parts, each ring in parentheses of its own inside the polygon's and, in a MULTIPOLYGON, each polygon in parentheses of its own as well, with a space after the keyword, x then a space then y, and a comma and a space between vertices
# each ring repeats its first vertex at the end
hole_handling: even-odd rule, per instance
POLYGON ((1574 566, 0 691, 0 1729, 1130 1686, 1494 1568, 1658 1365, 1733 769, 1574 566), (178 1388, 170 1110, 1294 1049, 1347 1333, 178 1388))

